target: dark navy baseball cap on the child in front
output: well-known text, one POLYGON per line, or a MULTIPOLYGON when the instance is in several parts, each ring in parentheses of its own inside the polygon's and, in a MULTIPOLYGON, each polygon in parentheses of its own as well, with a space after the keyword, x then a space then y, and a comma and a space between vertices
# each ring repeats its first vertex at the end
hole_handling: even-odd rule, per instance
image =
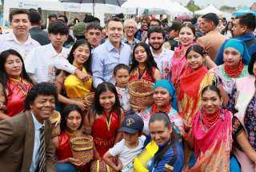
POLYGON ((124 131, 126 133, 135 134, 141 132, 144 127, 142 118, 137 114, 126 115, 126 118, 122 122, 122 127, 118 131, 124 131))

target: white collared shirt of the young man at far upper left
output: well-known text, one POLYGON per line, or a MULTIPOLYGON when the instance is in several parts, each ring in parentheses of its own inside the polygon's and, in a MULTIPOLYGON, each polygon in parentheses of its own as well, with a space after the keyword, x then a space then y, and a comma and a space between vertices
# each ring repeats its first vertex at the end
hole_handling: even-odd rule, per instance
POLYGON ((0 36, 0 53, 2 53, 3 51, 7 50, 7 49, 14 49, 16 51, 18 51, 18 53, 21 54, 23 60, 26 59, 28 53, 30 53, 30 51, 38 46, 40 46, 40 44, 38 43, 38 41, 35 41, 34 39, 32 39, 30 37, 27 38, 26 42, 24 44, 21 44, 18 39, 15 37, 14 33, 6 33, 6 34, 2 34, 0 36))

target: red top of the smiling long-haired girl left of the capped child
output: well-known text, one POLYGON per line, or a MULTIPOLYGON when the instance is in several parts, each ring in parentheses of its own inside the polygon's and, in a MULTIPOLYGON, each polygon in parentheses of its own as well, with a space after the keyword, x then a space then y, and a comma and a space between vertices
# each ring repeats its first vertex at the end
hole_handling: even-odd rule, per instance
POLYGON ((92 126, 94 145, 100 157, 114 146, 115 135, 120 127, 120 119, 116 111, 111 112, 110 122, 107 121, 107 115, 104 114, 95 119, 92 126))

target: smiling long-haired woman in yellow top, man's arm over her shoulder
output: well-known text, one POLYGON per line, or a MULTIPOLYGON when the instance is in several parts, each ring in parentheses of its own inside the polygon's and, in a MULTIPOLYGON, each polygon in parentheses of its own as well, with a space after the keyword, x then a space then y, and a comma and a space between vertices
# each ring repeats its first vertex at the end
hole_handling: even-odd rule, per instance
POLYGON ((59 96, 59 101, 63 104, 76 104, 82 110, 85 109, 85 104, 82 103, 82 97, 86 94, 92 92, 92 78, 91 78, 91 55, 90 55, 90 44, 85 40, 78 40, 73 45, 68 56, 68 61, 70 64, 76 66, 82 72, 86 73, 87 80, 80 80, 78 76, 74 74, 69 74, 66 72, 61 72, 57 76, 58 90, 62 90, 62 85, 64 86, 65 96, 59 96))

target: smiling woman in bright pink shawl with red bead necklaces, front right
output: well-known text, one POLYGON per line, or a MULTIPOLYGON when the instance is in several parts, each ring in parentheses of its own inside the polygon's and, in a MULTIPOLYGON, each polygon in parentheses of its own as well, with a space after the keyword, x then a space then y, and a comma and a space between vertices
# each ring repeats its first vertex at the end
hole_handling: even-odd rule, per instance
POLYGON ((202 89, 202 109, 194 116, 190 140, 196 163, 186 171, 240 171, 238 163, 233 158, 230 160, 233 140, 242 149, 250 147, 245 143, 242 124, 230 111, 222 109, 221 104, 221 93, 216 86, 202 89))

